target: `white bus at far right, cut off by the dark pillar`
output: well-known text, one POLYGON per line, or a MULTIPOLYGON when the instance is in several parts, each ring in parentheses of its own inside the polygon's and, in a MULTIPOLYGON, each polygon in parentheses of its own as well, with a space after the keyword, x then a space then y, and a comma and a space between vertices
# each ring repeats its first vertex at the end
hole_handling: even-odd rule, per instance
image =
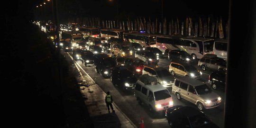
POLYGON ((217 57, 227 60, 228 54, 228 40, 218 39, 214 41, 212 54, 217 55, 217 57))

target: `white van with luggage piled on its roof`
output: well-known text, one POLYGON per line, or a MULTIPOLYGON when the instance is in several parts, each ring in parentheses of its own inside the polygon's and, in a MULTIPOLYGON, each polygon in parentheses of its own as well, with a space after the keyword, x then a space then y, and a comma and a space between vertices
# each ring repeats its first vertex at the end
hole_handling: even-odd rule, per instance
POLYGON ((146 104, 151 112, 166 110, 174 105, 170 92, 157 83, 155 77, 148 74, 141 75, 140 80, 135 84, 134 93, 138 103, 146 104), (142 79, 145 76, 146 81, 142 79), (152 80, 154 82, 150 82, 152 80))

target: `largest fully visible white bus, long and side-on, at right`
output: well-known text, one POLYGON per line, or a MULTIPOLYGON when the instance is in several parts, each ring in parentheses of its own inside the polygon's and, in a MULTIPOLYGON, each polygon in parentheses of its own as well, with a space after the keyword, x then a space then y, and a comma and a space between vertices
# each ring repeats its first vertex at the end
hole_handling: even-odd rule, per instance
POLYGON ((211 54, 214 39, 193 36, 157 36, 156 47, 165 54, 170 50, 181 49, 193 58, 201 58, 205 54, 211 54))

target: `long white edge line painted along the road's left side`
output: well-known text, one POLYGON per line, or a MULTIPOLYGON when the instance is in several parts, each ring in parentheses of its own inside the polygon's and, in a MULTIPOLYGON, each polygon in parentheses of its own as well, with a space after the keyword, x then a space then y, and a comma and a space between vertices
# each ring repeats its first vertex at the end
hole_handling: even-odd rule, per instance
MULTIPOLYGON (((79 66, 80 68, 81 68, 81 70, 82 70, 82 72, 83 73, 85 73, 90 79, 91 79, 91 81, 93 82, 93 83, 95 83, 95 81, 91 78, 91 76, 88 74, 88 73, 86 73, 84 70, 83 70, 83 68, 75 61, 75 60, 73 60, 73 57, 69 54, 69 53, 67 53, 68 55, 69 55, 69 57, 72 59, 72 61, 74 62, 74 64, 76 64, 76 66, 79 66)), ((78 68, 78 67, 77 67, 78 68)), ((80 71, 80 70, 79 70, 80 71)), ((81 73, 81 72, 80 72, 81 73)), ((81 75, 82 76, 82 75, 81 75)), ((96 84, 96 83, 95 83, 96 84)), ((105 93, 105 91, 103 91, 102 89, 101 89, 101 87, 98 85, 98 84, 96 84, 99 88, 100 88, 100 90, 102 91, 102 92, 104 92, 104 94, 105 95, 107 95, 106 93, 105 93)), ((119 107, 115 104, 115 102, 113 102, 113 105, 119 110, 119 112, 125 117, 125 119, 127 119, 130 123, 131 123, 131 125, 134 127, 134 128, 137 128, 137 126, 126 116, 126 114, 124 113, 124 112, 122 112, 120 109, 119 109, 119 107)))

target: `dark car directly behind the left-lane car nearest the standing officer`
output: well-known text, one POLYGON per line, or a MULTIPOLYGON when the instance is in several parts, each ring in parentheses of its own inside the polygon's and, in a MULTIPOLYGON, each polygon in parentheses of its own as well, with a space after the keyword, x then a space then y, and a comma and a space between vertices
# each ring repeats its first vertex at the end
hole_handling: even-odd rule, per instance
POLYGON ((97 73, 103 77, 110 77, 111 70, 117 65, 116 59, 107 54, 99 53, 94 55, 94 65, 97 73))

